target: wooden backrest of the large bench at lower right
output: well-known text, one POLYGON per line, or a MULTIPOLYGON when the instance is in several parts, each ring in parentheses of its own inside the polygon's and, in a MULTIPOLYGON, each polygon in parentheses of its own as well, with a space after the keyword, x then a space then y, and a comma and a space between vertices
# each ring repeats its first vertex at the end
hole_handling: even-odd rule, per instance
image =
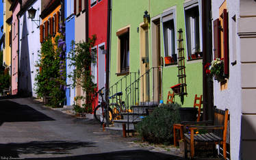
POLYGON ((225 111, 217 109, 214 106, 214 126, 224 126, 223 130, 214 130, 214 134, 223 138, 223 141, 227 141, 227 123, 229 120, 229 109, 225 111))

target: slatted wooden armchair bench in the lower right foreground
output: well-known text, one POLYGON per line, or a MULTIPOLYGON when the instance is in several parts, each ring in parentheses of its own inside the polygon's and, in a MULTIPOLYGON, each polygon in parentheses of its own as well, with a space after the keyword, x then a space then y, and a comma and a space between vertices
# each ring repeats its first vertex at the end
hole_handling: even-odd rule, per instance
MULTIPOLYGON (((185 158, 188 157, 187 143, 190 144, 190 157, 194 158, 194 148, 199 145, 216 145, 223 146, 223 157, 227 159, 227 123, 229 118, 229 110, 222 111, 214 107, 214 121, 213 126, 188 126, 189 133, 184 133, 184 146, 185 146, 185 158), (204 134, 194 134, 194 131, 198 129, 205 129, 210 132, 204 134)), ((203 124, 204 122, 192 122, 192 124, 203 124)), ((205 124, 209 121, 205 121, 205 124)))

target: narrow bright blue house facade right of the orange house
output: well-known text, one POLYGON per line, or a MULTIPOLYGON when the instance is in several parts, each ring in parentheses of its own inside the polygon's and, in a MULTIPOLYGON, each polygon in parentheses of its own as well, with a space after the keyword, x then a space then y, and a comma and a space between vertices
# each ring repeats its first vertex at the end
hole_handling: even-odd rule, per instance
MULTIPOLYGON (((65 0, 65 26, 66 26, 66 54, 71 51, 71 42, 75 40, 75 14, 74 0, 65 0)), ((68 57, 68 56, 66 56, 68 57)), ((75 88, 73 88, 73 80, 68 75, 71 75, 74 67, 70 66, 71 60, 66 58, 66 105, 74 104, 75 88)))

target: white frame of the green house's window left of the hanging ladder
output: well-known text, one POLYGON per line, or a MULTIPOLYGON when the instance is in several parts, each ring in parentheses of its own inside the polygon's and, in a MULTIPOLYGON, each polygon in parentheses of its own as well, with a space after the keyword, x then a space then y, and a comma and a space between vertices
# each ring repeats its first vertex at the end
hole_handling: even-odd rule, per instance
MULTIPOLYGON (((175 33, 175 54, 177 55, 177 27, 176 27, 176 9, 172 9, 172 10, 168 10, 166 12, 164 12, 161 16, 161 23, 162 23, 162 34, 163 34, 163 39, 164 39, 164 23, 168 22, 165 21, 164 18, 166 16, 171 16, 172 14, 172 18, 170 18, 168 21, 173 21, 174 23, 174 33, 175 33)), ((165 42, 165 39, 164 39, 165 42)), ((163 43, 164 44, 164 43, 163 43)), ((172 57, 172 53, 169 53, 170 49, 168 49, 168 54, 166 53, 166 47, 164 46, 164 57, 166 57, 166 55, 172 57)), ((177 55, 178 57, 178 55, 177 55)))

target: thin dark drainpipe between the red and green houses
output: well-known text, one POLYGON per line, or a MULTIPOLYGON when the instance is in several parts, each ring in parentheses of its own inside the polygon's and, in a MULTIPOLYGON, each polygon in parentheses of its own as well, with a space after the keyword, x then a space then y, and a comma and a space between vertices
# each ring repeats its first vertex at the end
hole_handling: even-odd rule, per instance
MULTIPOLYGON (((110 88, 110 32, 111 32, 112 0, 107 0, 107 54, 106 54, 106 84, 105 89, 110 88)), ((108 92, 105 93, 105 100, 108 100, 108 92)))

